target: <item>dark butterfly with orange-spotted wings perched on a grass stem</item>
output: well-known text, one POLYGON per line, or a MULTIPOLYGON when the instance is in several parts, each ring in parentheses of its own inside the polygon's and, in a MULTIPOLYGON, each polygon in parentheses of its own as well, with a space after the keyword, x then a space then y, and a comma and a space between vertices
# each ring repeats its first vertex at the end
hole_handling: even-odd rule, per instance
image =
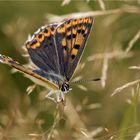
POLYGON ((52 99, 51 96, 56 94, 56 101, 63 101, 64 95, 71 90, 69 83, 85 49, 93 21, 93 17, 72 18, 39 28, 25 44, 36 69, 1 54, 0 62, 49 89, 47 98, 52 99))

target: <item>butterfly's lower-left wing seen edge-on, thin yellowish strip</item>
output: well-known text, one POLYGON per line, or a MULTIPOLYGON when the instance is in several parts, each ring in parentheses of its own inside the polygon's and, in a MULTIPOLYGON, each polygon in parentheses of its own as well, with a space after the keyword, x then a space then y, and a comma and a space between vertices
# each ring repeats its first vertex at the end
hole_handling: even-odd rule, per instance
POLYGON ((45 73, 43 71, 39 72, 38 70, 32 70, 30 68, 26 68, 26 67, 22 66, 19 62, 13 60, 12 58, 1 55, 1 54, 0 54, 0 62, 5 63, 5 64, 17 69, 18 71, 26 74, 26 76, 28 78, 30 78, 34 82, 38 83, 39 85, 42 85, 45 87, 47 86, 48 88, 51 88, 54 90, 59 89, 57 83, 55 83, 56 80, 51 81, 51 76, 47 75, 47 73, 45 73))

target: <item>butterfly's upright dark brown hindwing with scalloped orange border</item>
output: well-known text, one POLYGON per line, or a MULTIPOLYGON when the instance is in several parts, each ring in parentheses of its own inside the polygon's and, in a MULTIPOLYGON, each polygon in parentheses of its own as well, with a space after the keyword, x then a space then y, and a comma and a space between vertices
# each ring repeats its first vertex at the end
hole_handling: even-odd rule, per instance
POLYGON ((26 48, 31 60, 40 69, 60 75, 59 59, 54 39, 56 26, 57 24, 41 27, 27 41, 26 48))

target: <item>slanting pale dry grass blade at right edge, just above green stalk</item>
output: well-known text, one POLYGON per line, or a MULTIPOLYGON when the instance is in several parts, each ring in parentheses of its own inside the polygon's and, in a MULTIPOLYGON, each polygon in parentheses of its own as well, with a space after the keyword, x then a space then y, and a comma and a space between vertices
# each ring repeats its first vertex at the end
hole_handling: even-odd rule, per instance
POLYGON ((114 96, 115 94, 121 92, 122 90, 124 90, 125 88, 128 88, 130 86, 133 86, 137 83, 140 82, 140 79, 139 80, 135 80, 135 81, 132 81, 132 82, 129 82, 129 83, 126 83, 125 85, 121 86, 121 87, 118 87, 114 90, 114 92, 111 94, 111 96, 114 96))

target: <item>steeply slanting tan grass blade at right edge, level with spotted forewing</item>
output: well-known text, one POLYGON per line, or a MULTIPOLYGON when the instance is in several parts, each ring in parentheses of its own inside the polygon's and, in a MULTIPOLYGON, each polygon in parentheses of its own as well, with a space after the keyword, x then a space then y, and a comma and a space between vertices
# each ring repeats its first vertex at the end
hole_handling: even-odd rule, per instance
POLYGON ((136 43, 136 41, 140 38, 140 30, 136 33, 136 35, 130 40, 128 47, 126 48, 125 52, 128 53, 132 47, 134 46, 134 44, 136 43))

